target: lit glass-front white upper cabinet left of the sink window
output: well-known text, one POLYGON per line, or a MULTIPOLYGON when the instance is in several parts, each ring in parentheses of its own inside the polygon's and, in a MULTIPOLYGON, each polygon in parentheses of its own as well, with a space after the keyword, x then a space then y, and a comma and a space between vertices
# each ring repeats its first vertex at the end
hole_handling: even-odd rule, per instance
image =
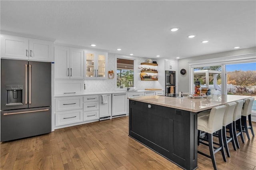
POLYGON ((84 51, 84 79, 106 79, 108 53, 84 51))

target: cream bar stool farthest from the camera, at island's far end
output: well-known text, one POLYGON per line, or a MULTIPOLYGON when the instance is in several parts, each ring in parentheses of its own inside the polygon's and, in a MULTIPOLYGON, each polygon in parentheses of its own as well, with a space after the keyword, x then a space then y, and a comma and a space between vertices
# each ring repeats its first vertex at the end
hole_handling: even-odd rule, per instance
POLYGON ((252 118, 251 118, 253 102, 254 102, 253 97, 250 97, 249 99, 246 99, 245 103, 244 103, 244 107, 242 109, 242 117, 241 117, 242 128, 243 128, 243 132, 246 132, 248 140, 250 140, 248 129, 251 129, 252 136, 254 136, 254 132, 253 132, 253 128, 252 128, 252 118), (247 127, 247 122, 246 122, 246 117, 247 116, 248 116, 248 122, 249 122, 248 127, 247 127))

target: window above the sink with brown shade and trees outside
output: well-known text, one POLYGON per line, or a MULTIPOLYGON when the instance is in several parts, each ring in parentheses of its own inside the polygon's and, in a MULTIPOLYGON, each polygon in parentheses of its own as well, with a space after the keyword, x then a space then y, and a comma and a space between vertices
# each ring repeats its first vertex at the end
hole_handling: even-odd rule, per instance
POLYGON ((116 57, 116 89, 125 90, 127 86, 135 87, 135 77, 134 75, 134 61, 133 58, 123 58, 122 56, 116 57))

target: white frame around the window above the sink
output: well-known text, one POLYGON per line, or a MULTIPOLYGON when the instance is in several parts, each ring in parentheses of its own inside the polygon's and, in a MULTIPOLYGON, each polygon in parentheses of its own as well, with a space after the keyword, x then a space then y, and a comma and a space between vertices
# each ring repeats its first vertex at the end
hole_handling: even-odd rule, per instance
MULTIPOLYGON (((128 55, 120 55, 120 54, 116 54, 115 55, 115 74, 117 76, 116 70, 117 70, 117 59, 121 58, 121 59, 130 59, 133 60, 133 82, 134 82, 134 88, 137 90, 138 87, 138 69, 135 69, 138 67, 138 58, 137 57, 132 57, 132 56, 128 56, 128 55)), ((126 88, 118 88, 117 85, 117 77, 114 78, 115 79, 115 91, 127 91, 126 88)))

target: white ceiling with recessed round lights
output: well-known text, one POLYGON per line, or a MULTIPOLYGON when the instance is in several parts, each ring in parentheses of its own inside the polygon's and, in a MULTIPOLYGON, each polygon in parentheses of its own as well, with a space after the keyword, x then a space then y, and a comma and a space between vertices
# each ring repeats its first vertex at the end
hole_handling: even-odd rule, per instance
POLYGON ((1 0, 0 8, 1 30, 82 47, 95 43, 110 53, 186 58, 256 46, 255 0, 1 0), (170 32, 174 27, 179 30, 170 32))

